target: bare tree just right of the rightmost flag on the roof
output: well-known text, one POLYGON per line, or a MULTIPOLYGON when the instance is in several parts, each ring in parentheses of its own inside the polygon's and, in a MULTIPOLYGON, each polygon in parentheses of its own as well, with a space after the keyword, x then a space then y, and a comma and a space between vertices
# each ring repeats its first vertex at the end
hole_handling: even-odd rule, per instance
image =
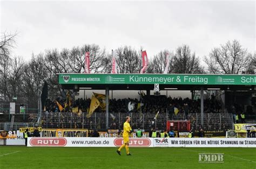
POLYGON ((188 45, 183 45, 176 49, 171 67, 172 73, 195 74, 204 72, 199 58, 196 57, 196 53, 191 53, 188 45))

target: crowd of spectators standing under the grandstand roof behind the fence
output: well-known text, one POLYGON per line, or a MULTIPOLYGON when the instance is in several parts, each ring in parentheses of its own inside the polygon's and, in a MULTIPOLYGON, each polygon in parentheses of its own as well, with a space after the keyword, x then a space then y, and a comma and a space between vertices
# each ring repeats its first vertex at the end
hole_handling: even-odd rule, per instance
MULTIPOLYGON (((57 101, 65 107, 66 100, 57 98, 57 101)), ((48 128, 87 128, 87 129, 104 129, 105 122, 105 110, 98 107, 95 112, 96 116, 86 118, 86 112, 90 107, 90 98, 78 98, 72 101, 72 107, 78 107, 82 110, 81 113, 71 113, 71 108, 64 109, 61 113, 55 101, 46 100, 46 111, 42 117, 42 125, 48 128), (48 114, 46 116, 46 113, 48 114), (46 120, 47 118, 47 120, 46 120)), ((172 120, 176 117, 174 114, 174 108, 178 108, 178 115, 182 117, 183 120, 190 120, 192 129, 200 129, 197 121, 200 117, 196 117, 196 113, 200 114, 200 100, 191 100, 190 98, 172 98, 166 96, 143 96, 139 99, 137 98, 124 98, 124 99, 110 99, 109 101, 109 112, 113 115, 109 118, 109 126, 111 129, 122 128, 122 119, 127 115, 132 115, 131 125, 134 129, 165 129, 166 120, 172 120), (128 105, 133 105, 132 109, 128 105), (141 107, 139 105, 142 105, 141 107), (154 116, 159 111, 157 120, 154 116), (132 113, 132 114, 131 114, 132 113), (182 115, 182 116, 181 116, 182 115)), ((204 100, 204 112, 213 118, 205 117, 204 126, 205 130, 220 130, 227 129, 228 122, 220 123, 220 112, 221 104, 215 98, 204 100), (215 114, 215 115, 214 115, 215 114)))

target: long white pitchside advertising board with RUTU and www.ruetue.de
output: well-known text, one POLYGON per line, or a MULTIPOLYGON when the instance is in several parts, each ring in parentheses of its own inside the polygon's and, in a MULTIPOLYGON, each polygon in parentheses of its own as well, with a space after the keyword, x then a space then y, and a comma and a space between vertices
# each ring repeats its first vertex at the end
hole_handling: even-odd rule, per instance
MULTIPOLYGON (((29 137, 28 146, 119 147, 123 138, 29 137)), ((131 147, 256 147, 255 138, 130 138, 131 147)))

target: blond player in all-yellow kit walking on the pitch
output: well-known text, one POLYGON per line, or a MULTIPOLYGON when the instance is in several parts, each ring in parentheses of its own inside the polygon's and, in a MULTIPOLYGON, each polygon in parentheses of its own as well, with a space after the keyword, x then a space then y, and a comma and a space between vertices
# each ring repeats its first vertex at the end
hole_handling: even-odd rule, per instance
POLYGON ((125 120, 126 122, 124 123, 124 132, 123 132, 124 144, 119 147, 119 149, 117 150, 117 153, 121 156, 121 150, 123 149, 123 147, 125 147, 127 156, 131 156, 132 154, 130 154, 129 152, 129 135, 132 133, 132 128, 129 124, 129 122, 131 121, 131 118, 127 116, 125 117, 125 120))

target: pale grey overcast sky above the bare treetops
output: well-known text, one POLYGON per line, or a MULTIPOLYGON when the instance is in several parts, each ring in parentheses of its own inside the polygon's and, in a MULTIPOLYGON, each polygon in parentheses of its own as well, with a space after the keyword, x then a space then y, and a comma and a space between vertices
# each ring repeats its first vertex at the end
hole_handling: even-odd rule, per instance
MULTIPOLYGON (((149 57, 182 44, 203 58, 238 39, 255 45, 255 1, 1 1, 1 32, 18 32, 14 55, 98 44, 107 52, 142 46, 149 57)), ((202 62, 202 61, 201 61, 202 62)))

